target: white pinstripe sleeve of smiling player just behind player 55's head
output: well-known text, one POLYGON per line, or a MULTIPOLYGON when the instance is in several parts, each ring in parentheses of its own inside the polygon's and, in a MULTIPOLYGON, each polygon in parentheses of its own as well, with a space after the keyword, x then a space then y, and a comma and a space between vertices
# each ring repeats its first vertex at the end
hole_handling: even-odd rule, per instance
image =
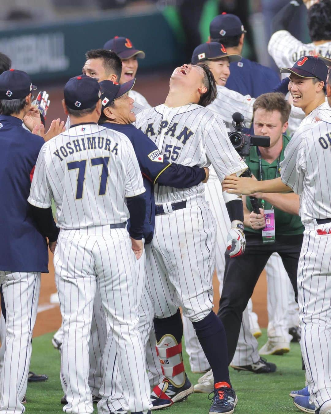
POLYGON ((245 118, 249 128, 253 118, 253 104, 255 98, 250 95, 242 95, 225 86, 217 86, 217 97, 207 108, 218 113, 224 122, 232 124, 232 114, 240 112, 245 118))

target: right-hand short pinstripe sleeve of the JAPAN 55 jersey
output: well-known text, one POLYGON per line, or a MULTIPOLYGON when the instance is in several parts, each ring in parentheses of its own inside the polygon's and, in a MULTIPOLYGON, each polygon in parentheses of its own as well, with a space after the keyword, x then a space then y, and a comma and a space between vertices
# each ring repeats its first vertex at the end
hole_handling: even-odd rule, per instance
POLYGON ((247 170, 247 165, 233 148, 223 120, 215 115, 205 132, 206 156, 215 168, 220 181, 225 176, 240 176, 247 170))

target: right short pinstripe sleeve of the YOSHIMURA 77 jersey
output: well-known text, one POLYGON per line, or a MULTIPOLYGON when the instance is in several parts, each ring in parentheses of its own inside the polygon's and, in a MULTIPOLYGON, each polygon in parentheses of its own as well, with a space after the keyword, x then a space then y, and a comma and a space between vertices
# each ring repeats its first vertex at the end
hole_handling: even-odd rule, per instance
POLYGON ((134 197, 146 191, 142 181, 137 156, 131 142, 127 142, 127 171, 125 175, 125 197, 134 197))

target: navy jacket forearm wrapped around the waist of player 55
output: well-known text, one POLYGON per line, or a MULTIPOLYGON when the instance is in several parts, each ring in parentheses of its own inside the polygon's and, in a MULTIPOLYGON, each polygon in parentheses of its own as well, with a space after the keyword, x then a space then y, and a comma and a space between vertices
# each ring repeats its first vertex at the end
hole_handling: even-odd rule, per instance
POLYGON ((158 176, 156 183, 174 188, 189 188, 201 183, 205 178, 204 168, 173 163, 158 176))

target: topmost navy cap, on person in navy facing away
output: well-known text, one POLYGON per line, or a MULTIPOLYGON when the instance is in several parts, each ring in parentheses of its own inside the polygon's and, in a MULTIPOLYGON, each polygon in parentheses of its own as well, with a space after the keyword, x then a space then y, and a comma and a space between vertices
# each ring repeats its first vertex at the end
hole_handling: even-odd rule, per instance
POLYGON ((244 25, 235 14, 222 13, 214 17, 209 25, 211 39, 222 39, 222 37, 239 36, 246 33, 244 25))

